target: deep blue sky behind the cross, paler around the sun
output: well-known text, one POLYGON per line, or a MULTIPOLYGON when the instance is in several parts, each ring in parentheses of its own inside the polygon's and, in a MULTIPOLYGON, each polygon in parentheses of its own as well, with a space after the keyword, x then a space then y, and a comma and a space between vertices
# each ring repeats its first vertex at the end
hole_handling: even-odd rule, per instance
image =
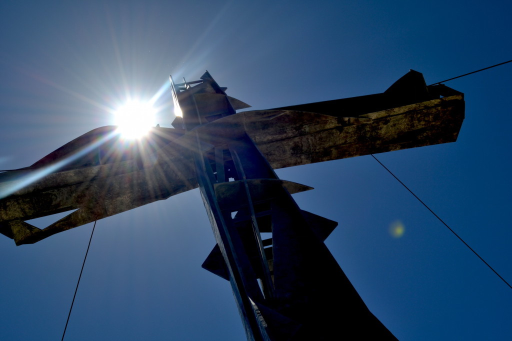
MULTIPOLYGON (((512 59, 503 1, 3 1, 0 169, 30 165, 205 70, 254 109, 428 84, 512 59), (336 4, 334 4, 336 3, 336 4)), ((512 282, 512 64, 447 82, 465 94, 456 143, 377 155, 512 282)), ((169 91, 159 123, 174 119, 169 91)), ((302 209, 402 341, 509 340, 512 290, 370 156, 283 169, 302 209), (403 236, 390 225, 400 221, 403 236)), ((99 203, 100 204, 100 203, 99 203)), ((92 224, 34 245, 0 236, 0 338, 60 339, 92 224)), ((97 222, 67 340, 243 340, 198 190, 97 222)))

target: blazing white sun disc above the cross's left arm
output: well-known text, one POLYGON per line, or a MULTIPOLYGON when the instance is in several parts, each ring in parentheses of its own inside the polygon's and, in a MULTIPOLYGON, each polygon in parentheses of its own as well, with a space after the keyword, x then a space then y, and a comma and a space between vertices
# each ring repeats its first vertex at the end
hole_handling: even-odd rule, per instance
POLYGON ((126 102, 115 113, 115 125, 122 137, 141 138, 155 125, 155 109, 150 103, 126 102))

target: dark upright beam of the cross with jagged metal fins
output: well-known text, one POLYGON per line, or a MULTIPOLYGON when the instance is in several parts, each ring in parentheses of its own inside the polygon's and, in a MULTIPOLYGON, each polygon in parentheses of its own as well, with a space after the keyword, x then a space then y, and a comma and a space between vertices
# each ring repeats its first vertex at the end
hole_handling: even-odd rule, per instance
POLYGON ((395 340, 324 244, 337 223, 297 206, 291 194, 310 187, 280 180, 242 125, 212 129, 235 110, 201 79, 172 90, 217 241, 203 267, 230 282, 247 339, 395 340))

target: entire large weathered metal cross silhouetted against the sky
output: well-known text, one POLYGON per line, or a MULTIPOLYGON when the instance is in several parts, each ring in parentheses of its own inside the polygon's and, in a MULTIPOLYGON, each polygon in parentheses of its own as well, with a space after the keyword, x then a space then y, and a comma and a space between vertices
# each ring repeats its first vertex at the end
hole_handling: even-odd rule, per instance
POLYGON ((248 340, 396 339, 325 246, 337 223, 300 209, 291 195, 311 187, 274 169, 453 142, 463 94, 410 71, 380 94, 237 113, 249 105, 208 72, 171 88, 174 129, 133 145, 100 127, 0 173, 0 232, 35 243, 199 187, 217 241, 203 268, 230 282, 248 340))

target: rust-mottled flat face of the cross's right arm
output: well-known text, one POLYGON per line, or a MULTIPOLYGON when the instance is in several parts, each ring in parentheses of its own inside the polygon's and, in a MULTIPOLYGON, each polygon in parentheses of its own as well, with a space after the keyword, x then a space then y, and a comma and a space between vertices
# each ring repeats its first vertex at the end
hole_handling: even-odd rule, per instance
POLYGON ((455 95, 358 117, 249 111, 212 122, 208 130, 225 134, 240 127, 277 169, 454 142, 463 118, 463 96, 455 95))

